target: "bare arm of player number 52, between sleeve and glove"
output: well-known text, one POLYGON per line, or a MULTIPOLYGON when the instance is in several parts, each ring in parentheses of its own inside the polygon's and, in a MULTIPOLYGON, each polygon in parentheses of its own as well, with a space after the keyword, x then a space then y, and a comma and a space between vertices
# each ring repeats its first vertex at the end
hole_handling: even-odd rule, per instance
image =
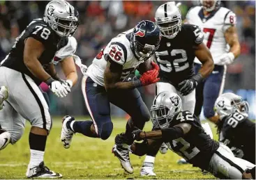
POLYGON ((209 51, 208 47, 206 47, 203 42, 195 47, 195 56, 202 63, 202 67, 199 69, 198 74, 201 74, 202 78, 204 79, 213 71, 213 57, 211 56, 211 52, 209 51))

